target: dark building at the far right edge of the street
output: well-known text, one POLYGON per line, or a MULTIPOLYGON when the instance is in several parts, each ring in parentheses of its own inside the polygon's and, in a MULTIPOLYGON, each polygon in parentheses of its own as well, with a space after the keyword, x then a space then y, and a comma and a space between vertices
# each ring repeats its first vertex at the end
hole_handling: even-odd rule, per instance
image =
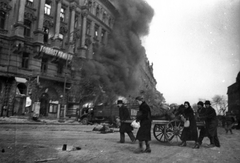
POLYGON ((240 119, 240 72, 237 75, 236 82, 228 87, 228 111, 237 115, 240 119))

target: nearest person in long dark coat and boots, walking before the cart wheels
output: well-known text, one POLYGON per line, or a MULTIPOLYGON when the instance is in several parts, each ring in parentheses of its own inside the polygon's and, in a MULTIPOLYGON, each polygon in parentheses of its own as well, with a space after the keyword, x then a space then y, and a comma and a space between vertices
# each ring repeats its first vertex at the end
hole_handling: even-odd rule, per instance
POLYGON ((140 128, 138 129, 136 139, 139 141, 139 148, 136 153, 151 153, 150 141, 151 141, 151 110, 148 104, 140 96, 136 97, 136 101, 139 104, 139 111, 136 117, 136 121, 140 122, 140 128), (143 150, 143 142, 145 142, 146 149, 143 150))

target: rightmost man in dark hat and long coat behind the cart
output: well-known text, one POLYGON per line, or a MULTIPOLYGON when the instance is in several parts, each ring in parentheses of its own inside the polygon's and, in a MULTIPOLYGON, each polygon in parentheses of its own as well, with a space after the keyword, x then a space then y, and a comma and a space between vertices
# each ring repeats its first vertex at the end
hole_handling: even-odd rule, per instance
POLYGON ((210 137, 209 148, 220 147, 220 142, 217 135, 218 119, 216 111, 212 108, 210 101, 205 101, 206 114, 203 116, 205 118, 207 134, 210 137))

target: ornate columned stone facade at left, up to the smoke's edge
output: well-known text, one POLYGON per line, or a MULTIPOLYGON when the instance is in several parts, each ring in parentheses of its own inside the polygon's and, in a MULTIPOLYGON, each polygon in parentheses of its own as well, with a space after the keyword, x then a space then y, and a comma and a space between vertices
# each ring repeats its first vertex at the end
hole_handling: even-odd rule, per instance
POLYGON ((116 14, 108 0, 0 0, 0 116, 25 114, 31 97, 55 117, 72 59, 107 44, 116 14))

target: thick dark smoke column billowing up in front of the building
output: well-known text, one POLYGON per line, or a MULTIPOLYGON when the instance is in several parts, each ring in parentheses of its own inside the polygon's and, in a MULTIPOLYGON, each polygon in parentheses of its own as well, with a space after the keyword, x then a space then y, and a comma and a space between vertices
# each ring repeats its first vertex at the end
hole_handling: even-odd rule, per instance
POLYGON ((85 63, 84 75, 99 81, 104 91, 127 96, 139 85, 134 74, 146 58, 140 38, 148 34, 153 9, 143 0, 111 0, 119 15, 108 45, 85 63))

